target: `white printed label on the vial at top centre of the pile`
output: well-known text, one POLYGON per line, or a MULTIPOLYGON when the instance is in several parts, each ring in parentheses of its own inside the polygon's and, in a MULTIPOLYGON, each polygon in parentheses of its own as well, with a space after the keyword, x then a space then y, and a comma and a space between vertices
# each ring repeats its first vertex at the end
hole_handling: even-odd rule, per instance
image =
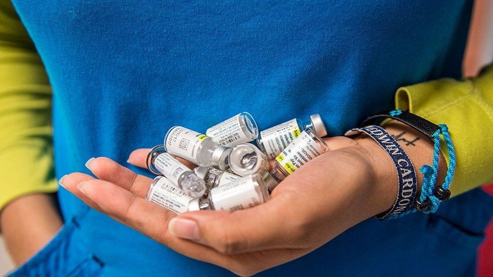
POLYGON ((212 140, 218 144, 234 146, 242 142, 250 142, 247 134, 241 129, 241 114, 227 119, 206 131, 206 135, 212 137, 212 140))

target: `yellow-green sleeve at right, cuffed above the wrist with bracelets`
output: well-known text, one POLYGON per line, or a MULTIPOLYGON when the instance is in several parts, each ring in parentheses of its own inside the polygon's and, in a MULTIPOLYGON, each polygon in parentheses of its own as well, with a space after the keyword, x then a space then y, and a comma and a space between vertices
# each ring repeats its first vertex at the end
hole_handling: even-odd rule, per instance
MULTIPOLYGON (((449 127, 457 155, 453 196, 493 181, 493 64, 476 78, 402 87, 396 107, 449 127)), ((441 146, 448 164, 445 143, 441 146)))

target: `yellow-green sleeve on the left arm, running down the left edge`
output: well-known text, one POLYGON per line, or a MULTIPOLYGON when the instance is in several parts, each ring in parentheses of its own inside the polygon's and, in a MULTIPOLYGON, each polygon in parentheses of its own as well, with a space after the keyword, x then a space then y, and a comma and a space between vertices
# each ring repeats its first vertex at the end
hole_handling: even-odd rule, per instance
POLYGON ((10 1, 0 1, 0 209, 55 192, 52 94, 43 64, 10 1))

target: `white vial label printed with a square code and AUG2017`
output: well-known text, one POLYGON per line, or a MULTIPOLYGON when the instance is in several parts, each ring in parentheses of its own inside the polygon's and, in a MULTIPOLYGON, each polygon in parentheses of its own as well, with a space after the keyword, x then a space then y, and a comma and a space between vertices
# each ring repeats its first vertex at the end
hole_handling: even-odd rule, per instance
POLYGON ((208 136, 180 126, 173 128, 166 139, 166 150, 199 164, 197 151, 208 136))

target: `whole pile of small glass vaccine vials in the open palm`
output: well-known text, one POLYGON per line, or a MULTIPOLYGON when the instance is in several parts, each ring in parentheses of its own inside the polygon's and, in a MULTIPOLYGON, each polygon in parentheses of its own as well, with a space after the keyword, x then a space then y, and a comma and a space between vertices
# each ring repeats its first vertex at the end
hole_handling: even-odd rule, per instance
POLYGON ((252 115, 240 113, 206 134, 175 126, 147 155, 154 179, 147 200, 170 211, 239 210, 266 202, 279 182, 326 152, 320 115, 292 119, 260 132, 252 115), (256 140, 257 146, 250 143, 256 140), (199 165, 190 170, 176 159, 199 165), (275 159, 270 169, 269 159, 275 159))

